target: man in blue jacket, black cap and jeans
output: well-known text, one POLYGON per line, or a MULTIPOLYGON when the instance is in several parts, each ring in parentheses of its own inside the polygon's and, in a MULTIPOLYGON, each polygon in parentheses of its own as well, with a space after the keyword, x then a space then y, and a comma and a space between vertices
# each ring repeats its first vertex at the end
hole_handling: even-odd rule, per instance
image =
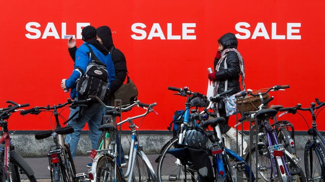
MULTIPOLYGON (((86 67, 91 61, 89 59, 89 49, 86 46, 88 44, 95 56, 107 65, 107 71, 109 75, 109 83, 115 78, 114 64, 109 54, 108 50, 96 40, 96 29, 93 26, 86 26, 82 29, 82 40, 84 43, 76 51, 76 59, 74 70, 66 81, 61 82, 62 89, 71 89, 70 96, 72 99, 77 99, 78 93, 76 90, 76 81, 80 78, 86 71, 86 67)), ((68 122, 68 126, 73 126, 75 132, 68 134, 66 136, 66 143, 70 144, 70 149, 73 158, 76 156, 77 146, 80 139, 80 134, 85 124, 88 123, 89 127, 89 138, 91 140, 91 145, 93 149, 96 149, 98 141, 100 139, 102 131, 98 130, 103 119, 103 109, 104 107, 100 103, 93 103, 91 106, 87 107, 84 111, 84 115, 78 121, 71 120, 68 122)), ((73 116, 79 108, 70 108, 70 117, 73 116)), ((78 117, 78 114, 75 116, 78 117)))

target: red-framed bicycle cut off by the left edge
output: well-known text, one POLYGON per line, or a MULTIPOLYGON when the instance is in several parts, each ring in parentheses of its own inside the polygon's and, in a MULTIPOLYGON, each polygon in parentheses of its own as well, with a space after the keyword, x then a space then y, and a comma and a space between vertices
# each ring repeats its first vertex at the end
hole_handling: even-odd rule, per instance
POLYGON ((2 135, 0 138, 0 179, 1 181, 20 181, 20 179, 29 179, 31 182, 37 181, 34 171, 24 161, 24 159, 15 152, 14 145, 11 141, 8 120, 12 113, 18 111, 19 108, 28 107, 29 104, 17 104, 13 101, 7 108, 0 109, 0 126, 2 127, 2 135))

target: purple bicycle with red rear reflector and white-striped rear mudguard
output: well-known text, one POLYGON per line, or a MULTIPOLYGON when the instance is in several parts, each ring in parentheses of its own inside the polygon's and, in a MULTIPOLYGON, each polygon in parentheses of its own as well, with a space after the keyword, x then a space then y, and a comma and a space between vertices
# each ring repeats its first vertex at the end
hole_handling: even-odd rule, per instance
MULTIPOLYGON (((271 90, 277 91, 288 87, 289 85, 275 85, 263 93, 253 94, 249 90, 247 94, 262 98, 271 90)), ((245 160, 249 161, 252 168, 255 167, 252 170, 257 179, 262 178, 265 181, 306 181, 298 161, 278 141, 277 133, 270 124, 270 119, 275 118, 278 112, 275 109, 265 109, 265 105, 272 100, 273 97, 267 99, 258 107, 257 111, 246 112, 239 119, 239 122, 245 119, 252 121, 251 138, 251 133, 255 132, 254 147, 247 153, 245 160)))

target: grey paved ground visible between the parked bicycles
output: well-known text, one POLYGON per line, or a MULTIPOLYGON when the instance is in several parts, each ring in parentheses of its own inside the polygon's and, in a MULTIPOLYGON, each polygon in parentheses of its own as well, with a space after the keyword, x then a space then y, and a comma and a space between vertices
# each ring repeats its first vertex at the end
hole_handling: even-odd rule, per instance
MULTIPOLYGON (((154 162, 154 160, 157 158, 158 154, 149 154, 147 157, 149 158, 153 168, 156 170, 157 163, 154 162)), ((304 169, 304 151, 299 150, 297 151, 297 157, 301 158, 300 165, 304 169)), ((39 182, 48 182, 51 181, 50 178, 50 172, 47 168, 48 164, 48 158, 25 158, 26 162, 32 167, 32 169, 35 172, 35 177, 38 179, 39 182)), ((75 166, 77 173, 87 172, 88 167, 86 167, 86 164, 91 162, 90 158, 88 156, 76 156, 75 158, 75 166)))

